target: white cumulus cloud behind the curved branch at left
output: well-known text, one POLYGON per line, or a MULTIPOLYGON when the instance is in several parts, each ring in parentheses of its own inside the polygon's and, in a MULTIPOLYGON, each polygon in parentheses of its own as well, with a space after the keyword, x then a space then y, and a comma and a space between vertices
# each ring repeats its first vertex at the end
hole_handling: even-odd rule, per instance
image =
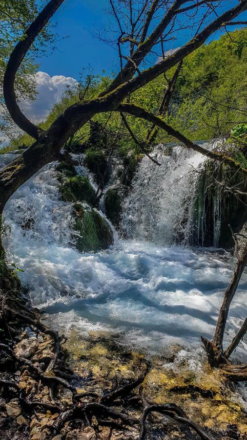
POLYGON ((38 123, 43 121, 54 104, 61 100, 64 91, 68 87, 74 88, 77 82, 71 77, 50 76, 45 72, 37 72, 35 80, 38 91, 37 100, 34 102, 23 100, 20 107, 28 119, 38 123))

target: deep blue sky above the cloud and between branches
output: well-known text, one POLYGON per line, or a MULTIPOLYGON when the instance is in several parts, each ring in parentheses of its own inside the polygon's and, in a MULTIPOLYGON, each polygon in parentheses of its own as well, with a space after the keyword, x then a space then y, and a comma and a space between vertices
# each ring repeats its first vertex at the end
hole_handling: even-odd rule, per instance
MULTIPOLYGON (((229 4, 236 1, 227 3, 229 8, 229 4)), ((116 70, 118 52, 92 35, 108 23, 109 18, 105 13, 108 5, 109 0, 65 1, 53 18, 53 23, 57 23, 56 49, 52 54, 47 53, 37 59, 39 70, 50 76, 64 75, 75 79, 79 79, 83 67, 87 68, 89 65, 95 73, 116 70)), ((245 19, 246 17, 247 14, 245 19)), ((219 38, 219 35, 218 32, 213 38, 219 38)), ((170 43, 167 49, 181 46, 187 41, 187 37, 186 31, 181 32, 176 42, 170 43)))

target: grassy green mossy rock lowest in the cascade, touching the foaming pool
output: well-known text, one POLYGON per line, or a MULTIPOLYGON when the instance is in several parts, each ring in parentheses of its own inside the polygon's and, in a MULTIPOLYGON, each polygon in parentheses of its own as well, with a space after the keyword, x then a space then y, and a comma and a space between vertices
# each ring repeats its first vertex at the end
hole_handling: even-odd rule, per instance
POLYGON ((74 215, 74 229, 79 233, 76 236, 76 248, 80 252, 97 252, 113 244, 113 233, 109 224, 95 209, 76 203, 74 215))

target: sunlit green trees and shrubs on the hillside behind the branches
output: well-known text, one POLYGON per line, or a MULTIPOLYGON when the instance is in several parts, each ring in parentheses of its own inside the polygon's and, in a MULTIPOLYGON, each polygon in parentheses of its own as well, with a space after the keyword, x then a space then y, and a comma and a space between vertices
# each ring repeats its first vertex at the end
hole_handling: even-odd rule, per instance
MULTIPOLYGON (((246 29, 235 30, 217 41, 204 44, 185 58, 165 120, 191 140, 230 136, 230 132, 234 131, 237 125, 242 126, 246 123, 246 114, 242 111, 247 102, 246 66, 246 29)), ((167 79, 173 75, 174 70, 175 67, 167 72, 167 79)), ((86 77, 76 92, 65 92, 62 101, 53 107, 47 119, 40 124, 43 129, 47 129, 69 105, 77 102, 83 90, 84 99, 90 99, 97 96, 110 82, 109 77, 96 77, 91 81, 90 87, 86 88, 87 80, 86 77)), ((165 87, 166 79, 161 75, 133 93, 130 102, 156 112, 165 87)), ((139 141, 143 141, 149 124, 132 116, 128 116, 128 122, 139 141)), ((87 141, 86 148, 90 150, 86 160, 88 163, 95 162, 92 167, 98 166, 96 158, 99 157, 99 152, 107 147, 105 133, 108 139, 113 139, 118 133, 114 141, 115 151, 117 150, 122 157, 129 151, 133 151, 134 155, 141 153, 123 127, 119 113, 98 114, 93 117, 93 123, 93 129, 90 124, 86 124, 74 137, 74 141, 79 143, 87 141), (98 128, 103 128, 101 137, 97 137, 97 125, 98 128)), ((172 140, 160 130, 155 143, 172 140)), ((11 142, 10 148, 17 149, 22 144, 28 147, 32 142, 30 136, 20 135, 11 142)))

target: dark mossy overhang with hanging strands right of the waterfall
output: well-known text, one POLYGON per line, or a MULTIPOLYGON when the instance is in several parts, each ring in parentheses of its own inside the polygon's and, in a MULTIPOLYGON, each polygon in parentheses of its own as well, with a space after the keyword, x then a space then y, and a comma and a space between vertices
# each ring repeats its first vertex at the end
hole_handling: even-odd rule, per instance
POLYGON ((226 248, 234 245, 228 224, 240 232, 247 220, 246 197, 236 197, 227 192, 224 185, 247 191, 247 181, 241 173, 207 159, 197 182, 193 244, 226 248))

